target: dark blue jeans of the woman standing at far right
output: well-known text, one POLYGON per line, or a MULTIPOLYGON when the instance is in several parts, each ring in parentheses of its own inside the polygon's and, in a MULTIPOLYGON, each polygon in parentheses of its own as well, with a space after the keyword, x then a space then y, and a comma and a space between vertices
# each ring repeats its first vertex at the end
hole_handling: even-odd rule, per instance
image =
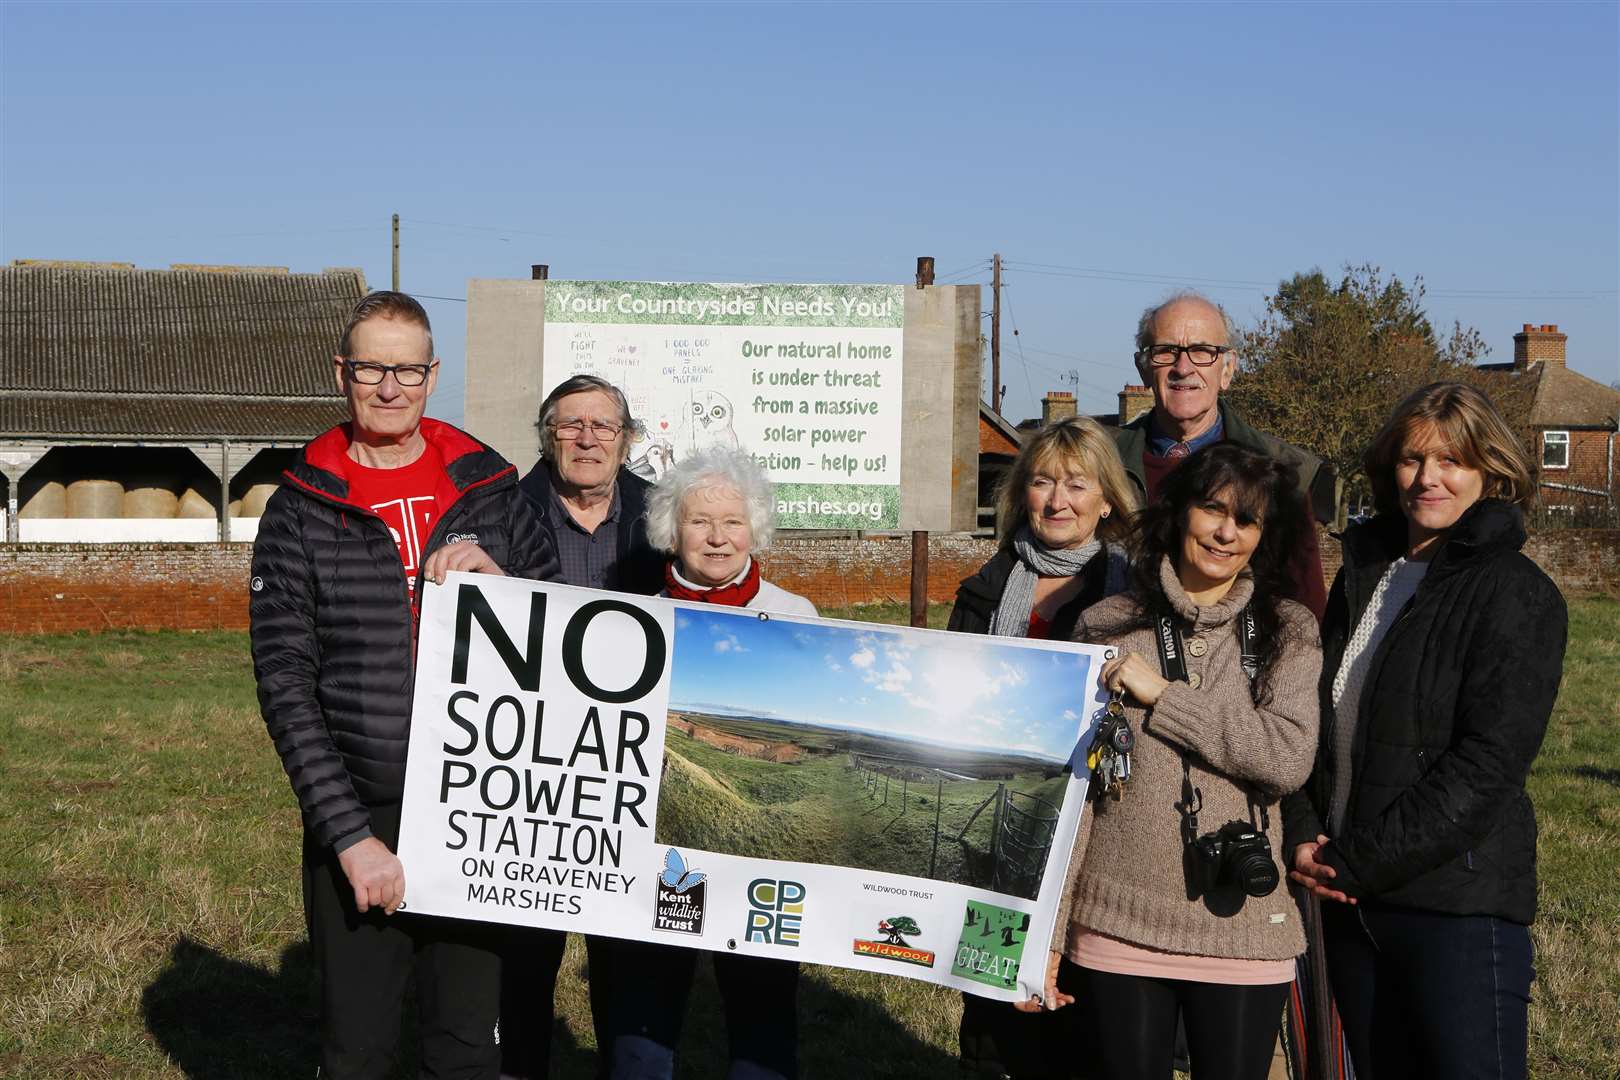
POLYGON ((1358 1080, 1523 1080, 1528 926, 1362 902, 1324 904, 1322 934, 1358 1080))

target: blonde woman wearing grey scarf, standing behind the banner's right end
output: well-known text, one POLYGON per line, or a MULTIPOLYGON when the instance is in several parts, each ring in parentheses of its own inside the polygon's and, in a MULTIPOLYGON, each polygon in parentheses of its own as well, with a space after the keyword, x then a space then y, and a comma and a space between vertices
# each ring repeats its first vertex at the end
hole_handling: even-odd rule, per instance
MULTIPOLYGON (((1136 489, 1103 427, 1076 416, 1042 427, 996 487, 1001 547, 962 581, 951 630, 1068 641, 1084 609, 1126 586, 1124 538, 1136 489)), ((1072 1046, 1056 1014, 962 996, 970 1075, 1068 1075, 1072 1046)))

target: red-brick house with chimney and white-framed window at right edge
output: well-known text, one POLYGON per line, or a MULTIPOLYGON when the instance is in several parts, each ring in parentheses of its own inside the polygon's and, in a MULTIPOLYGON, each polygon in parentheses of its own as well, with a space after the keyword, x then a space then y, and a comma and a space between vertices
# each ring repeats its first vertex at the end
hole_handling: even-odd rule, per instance
POLYGON ((1610 508, 1620 492, 1620 390, 1570 371, 1567 342, 1554 324, 1526 322, 1513 335, 1513 363, 1482 368, 1536 381, 1529 424, 1542 505, 1567 512, 1610 508))

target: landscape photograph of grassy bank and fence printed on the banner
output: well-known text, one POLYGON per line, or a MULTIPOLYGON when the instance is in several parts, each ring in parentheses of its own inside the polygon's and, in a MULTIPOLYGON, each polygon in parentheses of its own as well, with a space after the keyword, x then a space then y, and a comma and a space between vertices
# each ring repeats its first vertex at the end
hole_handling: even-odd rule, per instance
POLYGON ((1085 654, 690 607, 672 667, 659 844, 1035 899, 1085 654))

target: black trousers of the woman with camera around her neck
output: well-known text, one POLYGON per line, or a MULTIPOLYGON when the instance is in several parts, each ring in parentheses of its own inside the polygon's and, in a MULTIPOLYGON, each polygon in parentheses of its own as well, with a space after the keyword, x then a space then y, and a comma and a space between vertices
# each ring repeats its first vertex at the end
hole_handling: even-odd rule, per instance
POLYGON ((1181 1017, 1192 1080, 1265 1080, 1288 986, 1113 975, 1064 959, 1058 988, 1074 1004, 1058 1012, 1074 1010, 1071 1052, 1089 1059, 1082 1075, 1170 1080, 1181 1017))

